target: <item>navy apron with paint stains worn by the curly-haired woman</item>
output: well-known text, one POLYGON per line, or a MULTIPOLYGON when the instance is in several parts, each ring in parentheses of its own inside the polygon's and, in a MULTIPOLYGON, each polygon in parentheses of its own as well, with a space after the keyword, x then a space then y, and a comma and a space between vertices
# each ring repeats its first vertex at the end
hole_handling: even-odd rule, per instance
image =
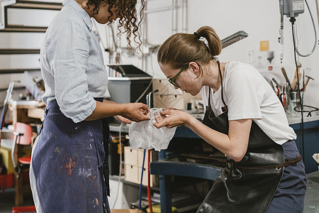
POLYGON ((76 124, 51 101, 31 160, 37 212, 110 212, 108 143, 105 120, 76 124))

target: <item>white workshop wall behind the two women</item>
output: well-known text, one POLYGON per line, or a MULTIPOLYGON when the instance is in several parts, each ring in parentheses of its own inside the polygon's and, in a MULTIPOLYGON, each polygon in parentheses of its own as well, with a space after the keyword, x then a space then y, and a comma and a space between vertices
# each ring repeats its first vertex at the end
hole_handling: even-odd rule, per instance
MULTIPOLYGON (((308 0, 315 27, 318 31, 318 20, 315 11, 315 1, 308 0)), ((305 6, 306 7, 306 6, 305 6)), ((50 23, 55 15, 55 11, 18 11, 11 14, 13 23, 35 22, 38 26, 50 23), (23 18, 21 18, 23 17, 23 18)), ((223 39, 237 31, 245 31, 249 34, 244 40, 225 48, 219 56, 220 61, 227 62, 238 60, 247 62, 247 53, 253 53, 252 65, 258 67, 258 70, 264 75, 274 75, 279 82, 284 83, 284 77, 281 74, 281 67, 284 67, 288 73, 289 79, 293 80, 296 67, 293 58, 293 42, 291 35, 291 23, 289 18, 284 17, 284 60, 282 64, 279 60, 279 28, 280 14, 279 1, 263 0, 149 0, 147 1, 147 13, 145 14, 145 26, 143 32, 145 57, 138 60, 138 55, 134 55, 125 50, 125 39, 122 38, 118 45, 121 46, 121 62, 133 64, 142 70, 153 75, 155 78, 165 78, 159 70, 157 64, 157 48, 166 40, 169 35, 177 32, 193 33, 201 26, 212 26, 217 31, 220 38, 223 39), (171 6, 177 6, 176 10, 169 9, 171 6), (157 9, 162 9, 155 12, 157 9), (269 62, 267 62, 267 52, 259 50, 259 42, 269 40, 269 50, 274 51, 272 60, 272 71, 268 71, 269 62), (262 60, 257 60, 261 58, 262 60)), ((296 27, 298 29, 298 49, 301 53, 308 53, 313 47, 314 33, 313 24, 310 20, 308 9, 296 18, 296 27)), ((109 38, 109 26, 97 24, 97 31, 104 45, 109 38)), ((115 27, 114 27, 115 28, 115 27)), ((0 48, 40 48, 44 38, 43 33, 0 33, 0 48)), ((318 32, 319 36, 319 32, 318 32)), ((318 38, 317 38, 318 40, 318 38)), ((318 45, 317 45, 318 46, 318 45)), ((310 75, 315 79, 309 83, 305 92, 305 104, 319 107, 319 97, 316 94, 319 91, 319 47, 316 48, 313 55, 308 58, 298 58, 301 62, 301 72, 310 68, 310 75)), ((105 61, 113 62, 113 58, 105 53, 105 61)), ((4 68, 34 68, 39 67, 38 55, 0 55, 0 69, 4 68)), ((308 69, 309 70, 309 69, 308 69)), ((40 77, 36 72, 32 75, 40 77)), ((6 88, 11 80, 22 80, 26 75, 0 75, 0 89, 6 88)), ((0 92, 0 103, 3 102, 5 92, 0 92)))

